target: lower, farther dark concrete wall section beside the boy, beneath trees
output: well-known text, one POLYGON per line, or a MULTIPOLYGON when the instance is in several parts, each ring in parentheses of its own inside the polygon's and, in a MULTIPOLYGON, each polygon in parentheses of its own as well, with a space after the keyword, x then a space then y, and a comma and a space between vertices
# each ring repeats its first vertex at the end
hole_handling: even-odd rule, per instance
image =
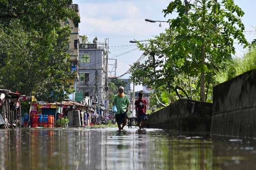
POLYGON ((149 115, 149 128, 210 131, 212 104, 181 99, 149 115))

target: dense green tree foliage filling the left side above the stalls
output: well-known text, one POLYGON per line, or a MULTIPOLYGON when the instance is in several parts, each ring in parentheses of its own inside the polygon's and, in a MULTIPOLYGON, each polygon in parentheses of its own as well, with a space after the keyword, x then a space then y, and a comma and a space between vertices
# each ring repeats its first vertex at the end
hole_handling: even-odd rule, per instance
POLYGON ((63 101, 72 91, 68 79, 68 38, 60 22, 80 22, 72 0, 0 2, 0 84, 38 100, 63 101))

